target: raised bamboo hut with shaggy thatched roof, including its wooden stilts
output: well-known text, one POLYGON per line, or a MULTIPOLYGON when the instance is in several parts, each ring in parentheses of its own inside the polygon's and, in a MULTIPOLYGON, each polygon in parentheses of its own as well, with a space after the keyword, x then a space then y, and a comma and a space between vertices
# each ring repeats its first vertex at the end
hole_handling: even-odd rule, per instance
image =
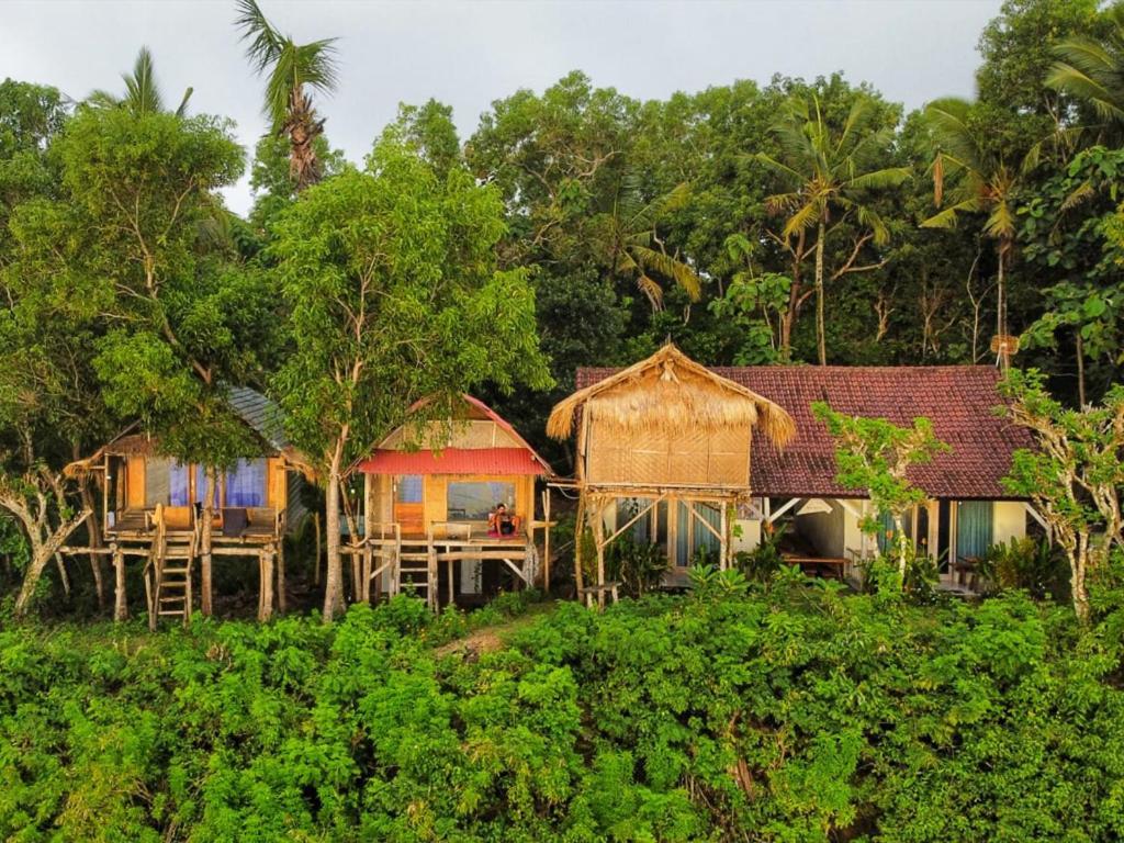
POLYGON ((753 433, 783 446, 796 432, 780 406, 670 343, 555 406, 547 434, 564 439, 575 428, 571 484, 579 495, 579 528, 590 527, 597 554, 596 581, 586 583, 578 543, 578 591, 602 605, 614 589, 606 582, 606 547, 633 527, 653 542, 670 536, 671 546, 709 536, 718 565, 726 568, 732 511, 751 496, 753 433))

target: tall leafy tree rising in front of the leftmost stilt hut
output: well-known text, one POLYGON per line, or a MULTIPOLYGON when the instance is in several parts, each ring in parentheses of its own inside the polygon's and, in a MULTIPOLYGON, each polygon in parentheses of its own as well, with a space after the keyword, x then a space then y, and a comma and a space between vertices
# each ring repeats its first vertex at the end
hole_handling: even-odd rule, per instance
MULTIPOLYGON (((214 487, 254 452, 228 388, 259 375, 275 324, 264 277, 214 237, 216 191, 238 178, 242 151, 216 118, 84 108, 53 154, 58 196, 17 209, 13 271, 53 319, 99 326, 82 359, 109 413, 143 422, 165 455, 208 466, 214 487)), ((207 577, 206 549, 202 564, 207 577)))

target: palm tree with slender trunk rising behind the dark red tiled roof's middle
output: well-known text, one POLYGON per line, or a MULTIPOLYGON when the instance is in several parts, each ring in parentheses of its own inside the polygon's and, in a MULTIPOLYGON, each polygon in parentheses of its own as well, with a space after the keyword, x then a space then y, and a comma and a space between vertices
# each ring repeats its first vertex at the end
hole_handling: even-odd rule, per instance
MULTIPOLYGON (((760 152, 754 157, 768 166, 786 190, 767 198, 770 210, 787 216, 781 237, 791 242, 808 230, 816 232, 815 290, 816 344, 819 364, 827 364, 824 325, 824 252, 830 229, 844 219, 869 232, 865 239, 885 245, 890 237, 882 218, 867 205, 872 191, 896 187, 909 178, 904 166, 867 166, 892 143, 892 127, 877 127, 874 102, 861 97, 851 106, 843 126, 836 130, 813 94, 810 102, 789 100, 785 118, 773 126, 780 144, 780 160, 760 152)), ((856 244, 861 247, 863 239, 856 244)), ((853 259, 852 259, 853 260, 853 259)))

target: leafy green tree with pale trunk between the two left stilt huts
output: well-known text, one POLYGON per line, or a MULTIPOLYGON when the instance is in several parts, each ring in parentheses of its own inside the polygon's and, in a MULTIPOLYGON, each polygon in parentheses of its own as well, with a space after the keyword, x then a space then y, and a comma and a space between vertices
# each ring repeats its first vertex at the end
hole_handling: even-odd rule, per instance
POLYGON ((271 246, 292 352, 274 379, 290 435, 325 483, 324 618, 343 607, 341 484, 350 466, 429 398, 427 413, 486 381, 550 386, 524 269, 496 269, 498 193, 462 169, 439 182, 389 135, 368 172, 311 188, 271 246))

